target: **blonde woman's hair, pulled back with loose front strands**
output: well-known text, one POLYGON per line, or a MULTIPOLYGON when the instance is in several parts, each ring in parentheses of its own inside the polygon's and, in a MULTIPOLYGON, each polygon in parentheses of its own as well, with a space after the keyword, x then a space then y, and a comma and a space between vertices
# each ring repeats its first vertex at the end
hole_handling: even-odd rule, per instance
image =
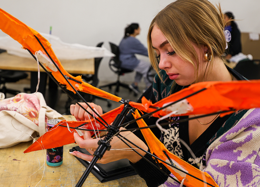
MULTIPOLYGON (((155 16, 148 31, 148 54, 157 74, 159 74, 158 61, 151 41, 151 32, 155 25, 164 34, 176 54, 182 60, 193 64, 194 68, 199 67, 199 58, 192 43, 197 46, 208 46, 212 53, 212 60, 207 65, 209 68, 212 68, 214 57, 221 57, 225 51, 226 40, 223 32, 225 23, 220 5, 217 9, 207 0, 177 0, 155 16)), ((198 82, 198 69, 195 72, 198 82)), ((206 71, 204 77, 205 74, 206 71)))

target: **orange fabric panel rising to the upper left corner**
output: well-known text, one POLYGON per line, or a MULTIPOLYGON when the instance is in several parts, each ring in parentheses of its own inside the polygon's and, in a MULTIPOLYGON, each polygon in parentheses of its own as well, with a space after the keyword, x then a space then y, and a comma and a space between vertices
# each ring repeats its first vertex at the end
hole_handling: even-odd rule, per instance
MULTIPOLYGON (((81 84, 79 84, 73 80, 69 80, 69 82, 72 84, 74 88, 76 88, 76 90, 84 91, 86 93, 93 94, 93 95, 98 95, 100 97, 107 98, 116 102, 119 102, 122 99, 111 93, 105 92, 101 89, 93 87, 88 83, 83 82, 81 76, 74 77, 70 75, 66 70, 64 70, 59 59, 54 54, 54 51, 52 50, 51 44, 48 42, 48 40, 46 40, 43 36, 41 36, 37 31, 25 25, 23 22, 19 21, 18 19, 8 14, 1 8, 0 8, 0 29, 6 34, 8 34, 9 36, 11 36, 14 40, 18 41, 23 46, 24 49, 30 50, 33 54, 35 54, 36 51, 41 50, 43 54, 46 55, 43 48, 35 38, 35 36, 37 36, 39 41, 47 50, 48 54, 54 60, 55 64, 59 67, 62 74, 67 75, 68 77, 81 82, 81 84)), ((60 84, 65 84, 68 90, 75 93, 74 89, 72 89, 72 87, 67 83, 66 79, 64 79, 64 77, 61 75, 59 71, 52 71, 47 66, 46 68, 52 72, 52 75, 60 84)))

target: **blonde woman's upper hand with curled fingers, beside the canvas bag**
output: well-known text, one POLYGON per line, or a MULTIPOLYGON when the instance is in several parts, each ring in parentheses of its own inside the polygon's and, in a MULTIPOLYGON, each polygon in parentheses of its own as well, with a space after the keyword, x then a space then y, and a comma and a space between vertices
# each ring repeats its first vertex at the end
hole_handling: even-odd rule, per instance
MULTIPOLYGON (((94 103, 88 103, 99 115, 103 114, 103 110, 99 105, 96 105, 94 103)), ((93 113, 94 117, 97 117, 97 115, 92 111, 91 108, 88 107, 86 103, 80 103, 89 113, 93 113)), ((83 108, 81 108, 78 104, 72 104, 70 105, 70 113, 73 115, 77 121, 86 121, 93 118, 91 117, 83 108)))

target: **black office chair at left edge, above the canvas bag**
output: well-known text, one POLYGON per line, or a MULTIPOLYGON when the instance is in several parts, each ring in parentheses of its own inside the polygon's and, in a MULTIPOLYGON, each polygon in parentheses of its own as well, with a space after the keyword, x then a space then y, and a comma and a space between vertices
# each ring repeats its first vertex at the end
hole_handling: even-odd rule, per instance
MULTIPOLYGON (((0 53, 2 52, 6 52, 6 50, 0 49, 0 53)), ((13 95, 21 93, 21 91, 19 90, 6 88, 5 84, 17 82, 18 80, 25 79, 26 77, 28 77, 28 74, 23 71, 0 70, 0 85, 2 87, 0 89, 0 92, 4 93, 5 96, 6 93, 10 93, 13 95)))

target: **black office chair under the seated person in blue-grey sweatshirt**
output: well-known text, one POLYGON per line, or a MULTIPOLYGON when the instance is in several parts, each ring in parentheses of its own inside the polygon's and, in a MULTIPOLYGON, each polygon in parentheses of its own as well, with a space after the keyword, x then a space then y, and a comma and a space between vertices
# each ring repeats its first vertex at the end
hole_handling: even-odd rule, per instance
POLYGON ((115 54, 114 57, 110 58, 109 67, 113 72, 115 72, 115 74, 117 74, 117 81, 114 82, 114 83, 110 83, 110 84, 100 86, 99 88, 109 87, 109 89, 111 89, 112 86, 116 86, 115 95, 117 95, 117 93, 119 92, 120 86, 129 89, 129 91, 132 91, 132 89, 129 88, 128 84, 124 84, 124 83, 120 82, 120 76, 124 75, 125 73, 130 73, 133 70, 129 70, 129 69, 125 69, 125 68, 120 67, 121 61, 119 60, 119 54, 120 54, 119 47, 116 46, 115 44, 111 43, 111 42, 109 42, 109 44, 110 44, 110 47, 111 47, 111 52, 115 54))

